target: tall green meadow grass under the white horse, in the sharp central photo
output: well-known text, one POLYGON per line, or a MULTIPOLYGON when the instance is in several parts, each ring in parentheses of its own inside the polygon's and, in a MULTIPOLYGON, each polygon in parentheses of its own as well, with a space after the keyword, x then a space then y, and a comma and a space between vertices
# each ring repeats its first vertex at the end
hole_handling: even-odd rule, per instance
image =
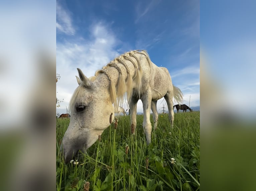
MULTIPOLYGON (((96 191, 200 190, 200 112, 175 113, 173 129, 168 114, 159 114, 150 145, 143 115, 137 115, 135 135, 129 121, 129 116, 121 116, 117 129, 113 122, 87 155, 79 153, 79 164, 74 165, 65 164, 59 151, 69 119, 57 119, 56 190, 83 190, 85 181, 96 191)), ((150 121, 153 126, 152 116, 150 121)))

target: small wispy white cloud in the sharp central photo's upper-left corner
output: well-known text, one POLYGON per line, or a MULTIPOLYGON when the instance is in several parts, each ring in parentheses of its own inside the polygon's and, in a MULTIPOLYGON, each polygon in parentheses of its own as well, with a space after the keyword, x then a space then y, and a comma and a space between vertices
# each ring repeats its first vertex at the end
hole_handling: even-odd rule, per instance
POLYGON ((68 10, 65 10, 58 1, 56 1, 56 29, 67 35, 74 35, 76 32, 68 10))

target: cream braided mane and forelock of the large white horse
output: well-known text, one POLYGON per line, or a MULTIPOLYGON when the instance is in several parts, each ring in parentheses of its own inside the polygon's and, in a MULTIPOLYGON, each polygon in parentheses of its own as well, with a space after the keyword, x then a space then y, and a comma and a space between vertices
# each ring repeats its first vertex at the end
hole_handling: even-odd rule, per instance
MULTIPOLYGON (((118 106, 123 103, 123 101, 125 99, 125 93, 127 93, 126 94, 127 100, 130 101, 133 88, 138 95, 140 95, 140 93, 141 93, 142 68, 141 68, 140 60, 136 56, 136 54, 142 54, 145 56, 149 66, 150 66, 150 73, 151 73, 152 63, 150 61, 150 58, 149 58, 147 52, 144 50, 136 50, 136 51, 126 52, 125 54, 120 55, 119 57, 115 58, 113 61, 108 63, 107 66, 104 66, 101 70, 97 70, 95 72, 95 76, 92 76, 89 78, 89 80, 94 81, 96 79, 96 77, 101 73, 103 73, 107 76, 107 78, 110 82, 110 85, 109 85, 110 99, 114 103, 115 109, 117 109, 118 106), (134 60, 131 59, 132 57, 135 58, 136 62, 134 62, 134 60), (130 74, 130 70, 129 70, 129 66, 127 65, 127 61, 132 63, 132 65, 135 69, 135 75, 133 77, 130 74), (124 78, 121 68, 118 66, 118 64, 122 64, 125 67, 126 73, 127 73, 127 79, 124 78), (119 73, 119 78, 118 78, 116 86, 114 85, 114 83, 112 81, 111 75, 108 73, 108 69, 110 67, 114 67, 115 69, 117 69, 117 71, 119 73), (133 82, 136 84, 136 87, 133 87, 133 82)), ((80 88, 82 88, 82 87, 83 86, 80 84, 80 86, 75 90, 74 95, 71 98, 69 108, 74 107, 76 99, 81 96, 83 91, 81 91, 80 88)))

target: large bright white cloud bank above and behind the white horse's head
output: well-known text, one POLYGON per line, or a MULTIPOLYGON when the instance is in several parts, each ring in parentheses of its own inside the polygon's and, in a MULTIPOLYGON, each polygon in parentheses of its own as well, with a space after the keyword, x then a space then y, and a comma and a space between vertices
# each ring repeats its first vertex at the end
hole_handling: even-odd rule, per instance
MULTIPOLYGON (((56 96, 60 103, 59 109, 68 107, 70 98, 77 88, 77 68, 80 68, 87 77, 94 76, 95 72, 109 63, 119 54, 115 46, 119 43, 111 29, 103 23, 91 27, 92 39, 74 40, 74 42, 57 43, 56 46, 56 73, 60 75, 56 83, 56 96)), ((58 110, 58 109, 57 109, 58 110)))

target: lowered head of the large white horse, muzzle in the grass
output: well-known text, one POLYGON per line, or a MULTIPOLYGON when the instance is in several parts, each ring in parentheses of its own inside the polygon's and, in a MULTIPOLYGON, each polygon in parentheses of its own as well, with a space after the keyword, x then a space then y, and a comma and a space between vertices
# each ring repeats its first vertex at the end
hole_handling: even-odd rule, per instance
POLYGON ((79 149, 85 152, 95 143, 110 125, 110 115, 114 113, 108 89, 97 86, 80 69, 78 72, 79 87, 70 101, 70 124, 62 139, 65 162, 69 162, 79 149))

